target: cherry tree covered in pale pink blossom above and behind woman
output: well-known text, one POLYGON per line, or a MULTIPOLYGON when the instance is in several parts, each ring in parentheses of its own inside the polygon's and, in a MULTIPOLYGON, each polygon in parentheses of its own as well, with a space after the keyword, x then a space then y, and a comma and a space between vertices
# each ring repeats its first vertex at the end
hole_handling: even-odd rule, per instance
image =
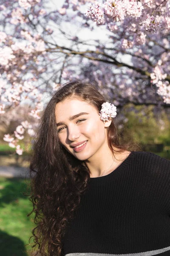
MULTIPOLYGON (((118 111, 129 102, 170 106, 169 0, 50 3, 0 0, 1 115, 29 99, 29 114, 40 119, 45 93, 72 79, 96 84, 118 111), (96 31, 100 38, 91 40, 96 31)), ((17 154, 25 131, 34 134, 26 120, 4 136, 17 154)))

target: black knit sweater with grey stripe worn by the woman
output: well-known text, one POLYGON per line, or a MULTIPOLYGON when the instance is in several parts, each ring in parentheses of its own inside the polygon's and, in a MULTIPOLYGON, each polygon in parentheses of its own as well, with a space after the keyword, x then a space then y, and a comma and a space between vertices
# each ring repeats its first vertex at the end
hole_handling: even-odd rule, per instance
POLYGON ((113 172, 90 178, 62 255, 170 256, 170 161, 132 151, 113 172))

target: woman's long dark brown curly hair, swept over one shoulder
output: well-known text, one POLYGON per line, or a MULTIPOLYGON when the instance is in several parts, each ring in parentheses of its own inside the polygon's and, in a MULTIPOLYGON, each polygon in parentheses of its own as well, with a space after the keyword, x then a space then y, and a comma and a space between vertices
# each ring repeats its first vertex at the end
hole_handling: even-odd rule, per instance
MULTIPOLYGON (((78 160, 62 146, 57 135, 55 107, 67 98, 85 100, 101 110, 106 100, 97 88, 82 81, 64 84, 52 96, 40 118, 31 149, 30 178, 34 223, 32 230, 33 255, 62 256, 62 238, 67 224, 79 208, 81 195, 88 188, 90 173, 84 161, 78 160)), ((108 144, 116 152, 135 150, 133 143, 120 143, 119 133, 113 122, 107 128, 108 144)), ((29 243, 30 243, 29 239, 29 243)))

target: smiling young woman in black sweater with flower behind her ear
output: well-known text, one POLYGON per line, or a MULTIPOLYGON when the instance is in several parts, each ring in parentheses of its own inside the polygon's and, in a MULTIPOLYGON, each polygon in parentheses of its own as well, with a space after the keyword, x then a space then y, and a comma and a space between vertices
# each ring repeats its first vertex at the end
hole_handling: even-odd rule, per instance
POLYGON ((115 116, 81 81, 43 111, 30 164, 42 256, 170 256, 170 161, 122 145, 115 116))

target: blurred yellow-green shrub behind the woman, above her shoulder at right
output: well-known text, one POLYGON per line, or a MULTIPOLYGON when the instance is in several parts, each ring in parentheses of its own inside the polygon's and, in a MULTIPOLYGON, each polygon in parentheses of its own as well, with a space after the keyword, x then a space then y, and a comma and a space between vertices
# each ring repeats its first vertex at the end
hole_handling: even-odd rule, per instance
MULTIPOLYGON (((148 149, 150 145, 151 150, 154 148, 153 145, 164 144, 165 147, 170 145, 170 115, 166 113, 165 109, 159 113, 154 113, 153 110, 153 105, 134 107, 129 104, 124 107, 123 112, 127 122, 122 127, 122 136, 125 138, 130 136, 131 140, 134 143, 139 143, 143 149, 147 145, 148 149)), ((156 148, 155 146, 155 150, 156 148)))

